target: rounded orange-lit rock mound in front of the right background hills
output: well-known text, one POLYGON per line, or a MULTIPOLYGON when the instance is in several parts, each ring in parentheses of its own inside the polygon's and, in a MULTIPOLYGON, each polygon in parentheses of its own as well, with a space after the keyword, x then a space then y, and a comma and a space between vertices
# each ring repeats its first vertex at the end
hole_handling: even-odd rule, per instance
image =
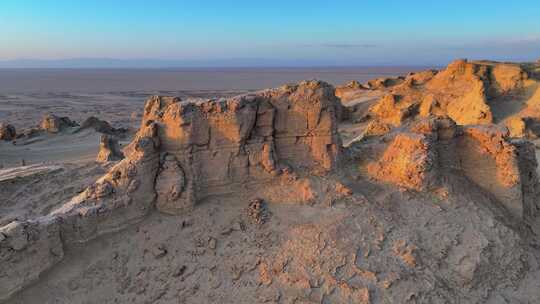
POLYGON ((534 146, 512 140, 506 128, 462 127, 450 118, 432 117, 387 137, 384 152, 367 168, 375 179, 429 191, 445 186, 449 176, 466 177, 517 219, 536 215, 539 192, 534 146))

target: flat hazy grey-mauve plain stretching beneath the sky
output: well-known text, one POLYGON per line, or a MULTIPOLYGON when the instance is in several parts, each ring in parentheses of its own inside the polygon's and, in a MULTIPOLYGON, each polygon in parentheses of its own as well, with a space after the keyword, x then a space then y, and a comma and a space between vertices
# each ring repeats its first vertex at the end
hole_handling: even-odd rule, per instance
POLYGON ((0 95, 257 90, 306 79, 333 85, 404 75, 434 67, 0 69, 0 95))

